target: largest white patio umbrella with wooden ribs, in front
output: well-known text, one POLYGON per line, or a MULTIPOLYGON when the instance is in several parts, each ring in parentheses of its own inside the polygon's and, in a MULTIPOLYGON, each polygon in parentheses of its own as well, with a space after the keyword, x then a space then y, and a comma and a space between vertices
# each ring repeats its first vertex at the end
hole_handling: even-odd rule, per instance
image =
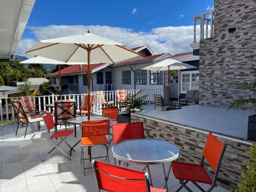
MULTIPOLYGON (((142 59, 143 55, 127 49, 120 42, 88 33, 68 37, 40 40, 25 53, 47 57, 62 62, 117 63, 142 59)), ((90 73, 88 73, 88 93, 90 93, 90 73)), ((90 94, 88 99, 90 106, 90 94)), ((90 113, 88 113, 90 119, 90 113)))

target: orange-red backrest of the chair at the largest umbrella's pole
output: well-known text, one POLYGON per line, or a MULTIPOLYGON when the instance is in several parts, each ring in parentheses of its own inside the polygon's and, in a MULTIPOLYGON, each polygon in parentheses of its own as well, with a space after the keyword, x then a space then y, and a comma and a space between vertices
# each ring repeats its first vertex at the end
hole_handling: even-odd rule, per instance
POLYGON ((82 121, 82 137, 110 135, 110 119, 82 121))

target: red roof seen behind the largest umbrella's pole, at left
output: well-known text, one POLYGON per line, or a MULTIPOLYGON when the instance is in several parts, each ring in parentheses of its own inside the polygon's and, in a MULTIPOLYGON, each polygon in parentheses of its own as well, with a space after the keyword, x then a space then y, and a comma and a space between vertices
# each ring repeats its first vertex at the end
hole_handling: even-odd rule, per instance
MULTIPOLYGON (((104 65, 105 63, 95 63, 95 64, 92 64, 90 65, 91 66, 91 70, 97 68, 97 67, 100 67, 102 65, 104 65)), ((87 72, 87 65, 81 65, 82 68, 80 69, 80 65, 72 65, 72 66, 69 66, 65 69, 62 69, 60 70, 60 74, 61 75, 65 75, 65 74, 70 74, 70 73, 82 73, 82 72, 87 72)), ((49 76, 57 76, 59 74, 59 72, 55 72, 55 73, 52 73, 50 74, 49 76)))

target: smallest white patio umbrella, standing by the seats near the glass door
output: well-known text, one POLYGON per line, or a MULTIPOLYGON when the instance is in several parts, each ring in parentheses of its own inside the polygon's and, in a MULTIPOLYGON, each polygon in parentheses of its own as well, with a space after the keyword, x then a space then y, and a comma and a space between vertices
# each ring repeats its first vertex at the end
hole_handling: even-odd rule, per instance
POLYGON ((192 69, 197 68, 195 66, 188 65, 187 63, 177 61, 175 59, 164 59, 157 62, 151 66, 143 68, 143 70, 151 71, 168 71, 168 105, 170 108, 170 70, 182 70, 182 69, 192 69))

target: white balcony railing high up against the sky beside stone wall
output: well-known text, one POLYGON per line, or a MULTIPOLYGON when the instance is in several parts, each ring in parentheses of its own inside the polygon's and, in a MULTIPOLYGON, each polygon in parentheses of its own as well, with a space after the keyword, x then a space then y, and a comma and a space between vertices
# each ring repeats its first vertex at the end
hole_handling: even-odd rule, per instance
POLYGON ((208 11, 201 15, 194 16, 194 43, 197 42, 197 21, 200 21, 200 39, 212 37, 214 35, 214 11, 208 11), (208 28, 210 27, 210 29, 208 28), (208 34, 210 33, 210 34, 208 34))

